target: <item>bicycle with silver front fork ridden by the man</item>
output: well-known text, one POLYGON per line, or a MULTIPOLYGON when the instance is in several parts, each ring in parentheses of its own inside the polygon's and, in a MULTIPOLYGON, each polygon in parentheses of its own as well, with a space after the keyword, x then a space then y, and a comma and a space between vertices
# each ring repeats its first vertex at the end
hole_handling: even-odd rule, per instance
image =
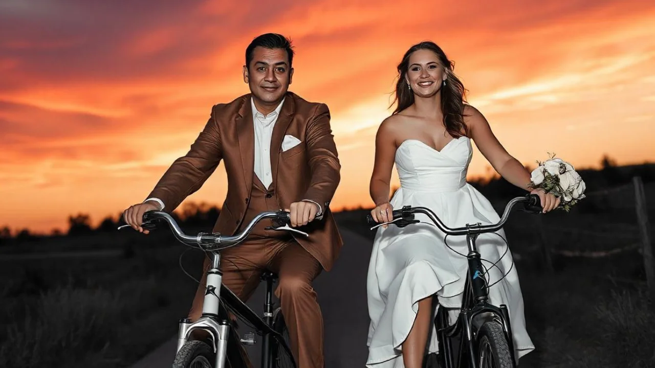
MULTIPOLYGON (((164 221, 168 223, 179 242, 209 252, 212 259, 211 268, 207 272, 202 316, 195 322, 191 322, 189 318, 179 321, 178 348, 173 368, 240 368, 246 366, 239 344, 255 344, 255 334, 246 333, 244 339, 240 339, 236 335, 234 322, 229 317, 228 310, 238 316, 240 320, 249 322, 258 335, 263 335, 262 368, 296 367, 289 347, 284 316, 279 307, 273 310, 272 285, 277 279, 276 274, 273 272, 263 273, 262 278, 266 280, 266 297, 263 317, 260 318, 246 303, 240 301, 230 289, 223 285, 222 274, 219 270, 220 251, 243 242, 253 227, 263 219, 272 219, 273 226, 267 227, 267 230, 286 230, 308 236, 306 232, 288 226, 289 213, 284 211, 259 213, 242 232, 234 236, 206 232, 191 236, 185 234, 175 219, 166 212, 149 211, 143 214, 143 224, 141 225, 143 229, 154 230, 157 228, 157 223, 164 221), (195 339, 191 333, 196 330, 206 331, 208 338, 195 339), (274 339, 275 344, 271 344, 271 338, 274 339)), ((122 225, 119 229, 129 226, 122 225)))

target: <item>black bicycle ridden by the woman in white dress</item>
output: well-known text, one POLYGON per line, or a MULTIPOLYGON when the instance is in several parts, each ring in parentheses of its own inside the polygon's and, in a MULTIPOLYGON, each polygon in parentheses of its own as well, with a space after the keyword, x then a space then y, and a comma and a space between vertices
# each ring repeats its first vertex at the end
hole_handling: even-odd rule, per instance
MULTIPOLYGON (((464 282, 464 299, 457 316, 457 321, 448 323, 447 310, 439 308, 434 316, 434 327, 437 331, 440 354, 437 361, 440 365, 424 364, 428 367, 495 367, 515 368, 514 340, 510 314, 505 304, 495 306, 489 303, 487 280, 483 275, 480 253, 477 252, 476 239, 479 234, 495 232, 506 223, 510 211, 515 204, 524 202, 527 212, 541 212, 539 196, 528 194, 516 197, 508 202, 498 223, 482 225, 466 224, 465 227, 449 228, 429 208, 404 206, 393 211, 393 219, 386 223, 377 223, 367 215, 367 222, 373 225, 371 230, 382 225, 405 227, 421 221, 414 218, 415 213, 422 213, 441 231, 451 236, 466 236, 468 246, 468 274, 464 282), (458 342, 458 344, 457 344, 458 342), (457 350, 455 346, 458 345, 457 350)), ((433 310, 436 308, 437 296, 433 295, 433 310)), ((427 358, 426 358, 427 359, 427 358)))

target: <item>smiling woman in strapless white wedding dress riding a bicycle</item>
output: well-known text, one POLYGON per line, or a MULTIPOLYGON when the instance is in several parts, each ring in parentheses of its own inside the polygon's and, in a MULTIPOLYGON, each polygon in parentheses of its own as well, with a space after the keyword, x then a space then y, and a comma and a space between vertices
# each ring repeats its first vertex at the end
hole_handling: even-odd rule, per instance
MULTIPOLYGON (((439 46, 432 42, 412 46, 398 65, 398 73, 398 105, 375 138, 370 187, 373 219, 390 221, 394 208, 411 205, 430 208, 449 227, 499 221, 489 200, 466 183, 471 140, 496 172, 517 187, 531 191, 530 172, 500 145, 483 115, 465 103, 464 86, 439 46), (400 189, 389 201, 394 162, 400 189)), ((544 212, 559 206, 552 194, 541 189, 531 193, 539 195, 544 212)), ((502 230, 498 234, 503 235, 502 230)), ((477 239, 483 259, 501 258, 506 244, 498 234, 477 239)), ((449 237, 447 245, 444 238, 443 232, 428 223, 402 229, 385 225, 378 230, 367 278, 371 316, 367 367, 421 368, 429 329, 428 350, 437 351, 430 323, 431 297, 437 294, 438 308, 453 308, 449 316, 456 318, 467 269, 466 258, 455 253, 468 252, 464 237, 449 237)), ((497 266, 500 270, 491 267, 487 272, 490 284, 508 274, 489 289, 489 298, 493 304, 507 304, 515 354, 520 357, 534 346, 525 331, 523 297, 509 252, 497 266)))

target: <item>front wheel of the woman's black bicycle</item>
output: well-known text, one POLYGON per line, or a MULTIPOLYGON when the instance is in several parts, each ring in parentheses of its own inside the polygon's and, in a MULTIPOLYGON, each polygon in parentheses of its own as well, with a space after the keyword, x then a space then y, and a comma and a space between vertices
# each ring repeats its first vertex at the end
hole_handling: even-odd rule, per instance
POLYGON ((485 322, 477 333, 479 368, 514 368, 512 352, 500 323, 485 322))

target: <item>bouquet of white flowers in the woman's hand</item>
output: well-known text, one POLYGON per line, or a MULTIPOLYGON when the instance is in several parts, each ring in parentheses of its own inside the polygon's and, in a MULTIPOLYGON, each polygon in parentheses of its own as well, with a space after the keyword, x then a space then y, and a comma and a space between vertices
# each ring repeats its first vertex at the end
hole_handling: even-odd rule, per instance
POLYGON ((539 166, 533 170, 530 178, 531 188, 541 188, 559 197, 559 208, 566 212, 584 198, 586 185, 569 162, 551 155, 550 160, 537 163, 539 166))

